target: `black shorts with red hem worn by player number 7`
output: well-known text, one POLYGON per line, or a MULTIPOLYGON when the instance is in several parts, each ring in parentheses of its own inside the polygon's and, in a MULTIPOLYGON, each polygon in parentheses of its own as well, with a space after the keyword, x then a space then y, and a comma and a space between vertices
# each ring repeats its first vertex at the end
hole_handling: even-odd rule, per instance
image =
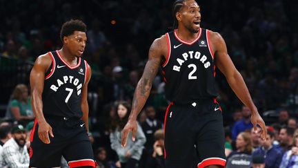
POLYGON ((54 138, 50 137, 50 144, 41 142, 35 120, 30 136, 30 167, 60 167, 61 156, 70 167, 95 167, 92 144, 83 120, 50 117, 46 121, 52 127, 54 138))

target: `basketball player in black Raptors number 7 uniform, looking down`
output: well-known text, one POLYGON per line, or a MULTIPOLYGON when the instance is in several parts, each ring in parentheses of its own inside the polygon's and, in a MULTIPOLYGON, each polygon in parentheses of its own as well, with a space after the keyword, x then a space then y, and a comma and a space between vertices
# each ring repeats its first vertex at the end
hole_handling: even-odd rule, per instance
POLYGON ((91 69, 81 58, 86 24, 66 21, 61 50, 37 57, 30 73, 32 109, 36 116, 30 141, 30 167, 95 167, 88 138, 87 88, 91 69))

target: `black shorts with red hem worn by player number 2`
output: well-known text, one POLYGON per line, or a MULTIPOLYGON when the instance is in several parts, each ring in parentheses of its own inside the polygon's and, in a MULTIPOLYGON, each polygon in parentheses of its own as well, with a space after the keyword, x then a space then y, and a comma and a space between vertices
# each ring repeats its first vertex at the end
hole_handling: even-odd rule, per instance
POLYGON ((216 100, 171 103, 164 127, 166 167, 226 165, 223 118, 216 100))

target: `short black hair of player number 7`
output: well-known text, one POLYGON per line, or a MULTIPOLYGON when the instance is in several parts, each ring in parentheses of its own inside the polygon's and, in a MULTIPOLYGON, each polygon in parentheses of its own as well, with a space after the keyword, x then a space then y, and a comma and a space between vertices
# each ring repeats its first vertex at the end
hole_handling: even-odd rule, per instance
POLYGON ((69 35, 72 35, 74 31, 80 31, 80 32, 86 32, 87 31, 87 26, 86 24, 83 23, 81 20, 73 20, 71 19, 70 21, 66 21, 61 28, 60 31, 60 39, 63 42, 63 37, 67 37, 69 35))

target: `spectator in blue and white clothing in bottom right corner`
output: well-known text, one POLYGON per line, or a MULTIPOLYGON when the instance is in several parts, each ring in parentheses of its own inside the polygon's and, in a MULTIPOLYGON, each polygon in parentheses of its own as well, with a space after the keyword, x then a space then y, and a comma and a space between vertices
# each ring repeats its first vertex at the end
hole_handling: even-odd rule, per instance
POLYGON ((281 160, 279 168, 295 168, 298 167, 298 136, 295 136, 292 147, 286 153, 281 160))

